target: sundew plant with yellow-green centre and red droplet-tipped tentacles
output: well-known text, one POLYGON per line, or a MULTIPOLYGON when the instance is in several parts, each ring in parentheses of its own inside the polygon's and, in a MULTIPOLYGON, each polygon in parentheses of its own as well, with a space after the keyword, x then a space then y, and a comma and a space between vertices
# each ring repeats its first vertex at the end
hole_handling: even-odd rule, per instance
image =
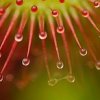
POLYGON ((67 79, 71 83, 75 82, 75 76, 73 75, 72 62, 70 57, 71 50, 69 48, 69 41, 66 39, 68 33, 66 26, 71 31, 70 34, 72 35, 72 39, 74 39, 75 43, 77 44, 77 49, 80 56, 84 57, 87 55, 87 53, 89 53, 95 64, 95 67, 97 68, 97 70, 100 70, 99 59, 97 59, 94 51, 92 50, 88 39, 89 37, 87 37, 83 24, 80 21, 80 17, 88 20, 88 23, 90 23, 90 28, 92 27, 94 30, 97 31, 98 34, 100 34, 100 29, 98 26, 100 24, 100 20, 98 21, 98 23, 93 20, 93 17, 98 20, 98 16, 100 16, 98 15, 98 13, 95 12, 95 9, 100 9, 99 0, 1 0, 0 29, 6 23, 10 14, 13 14, 13 16, 12 18, 9 18, 9 26, 6 25, 5 29, 7 31, 4 33, 4 37, 0 43, 0 59, 3 58, 3 48, 7 44, 7 40, 10 39, 13 28, 16 25, 18 26, 18 30, 15 30, 16 34, 14 36, 12 46, 5 60, 5 63, 4 65, 2 65, 2 67, 0 67, 0 82, 3 81, 4 72, 8 67, 8 63, 11 63, 11 59, 14 55, 17 45, 24 40, 24 30, 28 23, 28 45, 26 44, 27 51, 25 57, 23 57, 22 59, 22 65, 29 66, 30 64, 32 64, 30 59, 31 49, 33 49, 32 41, 36 38, 34 34, 38 34, 38 38, 41 40, 42 43, 41 50, 43 51, 43 59, 48 74, 48 84, 50 86, 56 85, 62 79, 67 79), (19 17, 21 18, 18 19, 19 17), (78 33, 76 32, 73 21, 71 19, 73 19, 73 21, 76 23, 79 33, 83 36, 87 48, 84 48, 84 45, 82 45, 82 41, 80 41, 77 35, 78 33), (36 28, 36 24, 38 25, 38 28, 36 28), (47 27, 49 27, 49 30, 47 30, 47 27), (57 35, 60 35, 61 40, 63 41, 66 62, 68 66, 64 66, 64 62, 60 57, 57 35), (62 70, 64 67, 67 67, 68 69, 68 74, 61 79, 51 77, 51 72, 48 64, 49 58, 46 47, 46 41, 49 36, 52 37, 52 43, 54 45, 54 50, 56 51, 56 55, 54 56, 56 56, 57 58, 57 63, 55 64, 55 66, 59 70, 62 70))

